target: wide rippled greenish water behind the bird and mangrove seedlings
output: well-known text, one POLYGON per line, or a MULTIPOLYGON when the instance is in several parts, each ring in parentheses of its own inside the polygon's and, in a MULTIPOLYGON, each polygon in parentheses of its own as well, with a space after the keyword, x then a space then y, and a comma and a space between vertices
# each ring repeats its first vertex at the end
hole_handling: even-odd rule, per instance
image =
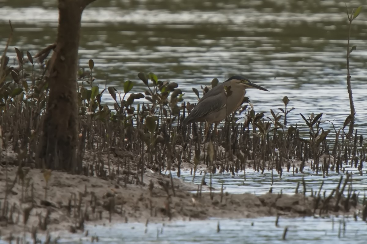
MULTIPOLYGON (((159 79, 172 80, 195 102, 192 87, 223 81, 243 74, 269 92, 249 90, 256 112, 288 107, 289 124, 304 124, 299 112, 323 112, 326 120, 340 127, 349 114, 346 91, 345 1, 96 1, 83 13, 80 63, 87 68, 94 59, 96 82, 116 86, 127 79, 144 90, 137 74, 155 72, 159 79)), ((363 1, 349 1, 351 8, 363 1)), ((15 28, 12 46, 38 50, 54 41, 57 8, 54 0, 3 0, 0 2, 0 48, 15 28)), ((353 22, 351 53, 356 124, 367 134, 366 56, 367 15, 362 10, 353 22)), ((10 55, 15 57, 13 48, 10 55)), ((102 97, 113 102, 109 94, 102 97)), ((143 101, 143 100, 142 100, 143 101)))

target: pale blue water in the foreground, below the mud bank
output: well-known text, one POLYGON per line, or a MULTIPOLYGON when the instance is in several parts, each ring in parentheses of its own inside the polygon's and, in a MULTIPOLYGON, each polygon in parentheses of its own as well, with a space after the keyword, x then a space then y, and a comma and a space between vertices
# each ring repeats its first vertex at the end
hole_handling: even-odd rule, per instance
MULTIPOLYGON (((288 227, 287 243, 334 244, 366 243, 367 224, 353 218, 279 218, 209 219, 206 221, 175 221, 166 224, 143 223, 115 224, 112 226, 86 226, 89 236, 68 234, 58 243, 92 243, 91 236, 98 236, 98 243, 124 244, 180 244, 180 243, 284 243, 284 228, 288 227), (219 233, 217 224, 219 221, 219 233), (345 228, 344 224, 346 223, 345 228), (339 228, 341 229, 339 231, 339 228)), ((56 236, 57 233, 52 233, 56 236)), ((0 241, 1 243, 1 241, 0 241)), ((96 243, 96 242, 95 242, 96 243)))

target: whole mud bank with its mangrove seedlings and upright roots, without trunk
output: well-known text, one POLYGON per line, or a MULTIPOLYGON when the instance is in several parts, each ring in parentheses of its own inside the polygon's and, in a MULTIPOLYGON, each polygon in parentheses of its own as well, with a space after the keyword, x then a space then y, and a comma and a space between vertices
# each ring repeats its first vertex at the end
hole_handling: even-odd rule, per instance
MULTIPOLYGON (((124 82, 124 91, 102 89, 94 85, 93 60, 88 62, 89 70, 78 69, 75 87, 79 135, 75 171, 63 168, 58 153, 52 156, 56 163, 48 164, 40 155, 48 151, 42 142, 46 110, 53 109, 47 107, 47 80, 52 76, 47 67, 52 63, 48 55, 56 48, 50 45, 33 56, 15 48, 13 66, 6 50, 1 58, 1 239, 11 241, 19 238, 17 234, 30 232, 36 241, 37 232, 84 231, 89 221, 148 223, 331 214, 366 221, 367 200, 353 190, 352 173, 345 171, 350 165, 363 175, 366 161, 363 138, 357 136, 357 128, 352 135, 347 129, 354 115, 348 116, 341 128, 333 124, 335 138, 330 138, 330 130, 320 126, 322 113, 301 114, 305 121, 301 126, 309 128, 304 136, 299 133, 300 125, 287 123, 293 108, 289 109, 286 96, 284 108, 267 113, 255 112, 256 106, 245 97, 237 112, 246 118, 245 123, 232 114, 218 127, 218 134, 212 127, 206 131, 200 123, 184 128, 182 120, 194 104, 185 102, 177 83, 141 72, 137 80, 124 82), (135 82, 146 85, 144 94, 131 93, 135 82), (102 96, 111 96, 114 107, 103 104, 102 96), (148 102, 138 104, 142 98, 148 102), (325 194, 321 184, 310 196, 304 181, 295 187, 294 195, 228 194, 223 189, 214 193, 211 187, 213 174, 235 175, 252 168, 259 174, 271 171, 281 177, 283 170, 302 174, 305 166, 325 181, 329 171, 335 171, 340 181, 330 194, 325 194), (208 174, 207 183, 203 177, 202 184, 189 184, 170 174, 177 170, 179 177, 181 170, 190 169, 193 177, 199 171, 208 174)), ((214 79, 211 87, 217 84, 214 79)), ((200 99, 211 87, 193 88, 193 92, 200 99)))

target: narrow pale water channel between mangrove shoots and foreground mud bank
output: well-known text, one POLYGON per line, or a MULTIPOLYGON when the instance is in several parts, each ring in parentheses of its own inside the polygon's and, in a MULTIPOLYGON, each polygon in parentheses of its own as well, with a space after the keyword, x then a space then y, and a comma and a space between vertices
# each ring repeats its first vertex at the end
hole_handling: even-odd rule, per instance
MULTIPOLYGON (((347 170, 349 173, 352 173, 352 184, 350 185, 351 189, 355 190, 356 193, 359 192, 360 196, 363 198, 363 195, 367 193, 366 176, 361 176, 356 168, 352 168, 350 166, 345 167, 345 172, 347 170)), ((363 170, 363 172, 364 174, 367 173, 366 170, 363 170)), ((172 176, 177 177, 177 172, 172 171, 172 176)), ((304 181, 306 184, 306 195, 311 195, 312 191, 314 192, 314 194, 316 191, 318 192, 320 190, 322 181, 324 181, 324 184, 321 188, 321 194, 323 194, 324 191, 326 192, 326 194, 330 194, 331 191, 337 187, 341 176, 343 176, 343 185, 346 178, 345 173, 336 173, 335 171, 329 170, 328 176, 325 176, 325 178, 323 178, 322 172, 319 172, 319 175, 316 175, 316 171, 314 172, 309 167, 304 168, 304 174, 293 173, 293 169, 291 167, 290 172, 287 172, 286 169, 283 169, 281 177, 276 172, 276 170, 274 170, 272 184, 271 170, 265 170, 264 174, 261 174, 260 172, 257 172, 252 168, 246 168, 246 172, 239 171, 234 176, 232 176, 232 173, 226 172, 223 174, 212 174, 212 187, 216 189, 215 192, 220 192, 223 184, 224 192, 235 194, 247 192, 261 195, 269 192, 270 188, 274 193, 282 192, 286 194, 294 194, 298 182, 298 192, 304 192, 302 185, 302 177, 304 177, 304 181)), ((196 172, 194 183, 201 184, 203 177, 203 172, 201 172, 201 174, 200 171, 196 172)), ((193 175, 190 174, 189 170, 182 170, 181 179, 183 181, 192 182, 193 175)), ((205 182, 207 186, 210 185, 210 174, 206 174, 205 182)), ((348 185, 349 183, 346 185, 344 194, 348 192, 348 185)))

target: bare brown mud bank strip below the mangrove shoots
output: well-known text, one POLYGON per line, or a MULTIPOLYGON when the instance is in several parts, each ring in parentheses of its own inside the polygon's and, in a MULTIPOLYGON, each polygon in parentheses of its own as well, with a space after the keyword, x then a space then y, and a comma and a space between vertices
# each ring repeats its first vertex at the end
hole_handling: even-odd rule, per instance
MULTIPOLYGON (((181 170, 189 170, 190 165, 181 165, 181 170)), ((52 171, 46 187, 47 173, 44 170, 23 167, 19 173, 18 166, 2 163, 0 188, 4 190, 0 193, 1 239, 6 240, 10 234, 17 236, 24 231, 83 232, 85 224, 209 217, 353 215, 362 209, 355 199, 348 199, 346 203, 347 199, 343 195, 339 197, 339 204, 336 204, 336 194, 327 199, 303 194, 197 194, 190 192, 195 192, 197 185, 171 179, 169 171, 164 175, 145 169, 142 174, 134 168, 118 171, 116 165, 111 164, 109 167, 116 174, 113 178, 52 171), (29 217, 25 219, 27 215, 29 217)), ((205 165, 198 167, 198 170, 205 169, 205 165)), ((202 186, 202 191, 209 190, 207 185, 202 186)))

